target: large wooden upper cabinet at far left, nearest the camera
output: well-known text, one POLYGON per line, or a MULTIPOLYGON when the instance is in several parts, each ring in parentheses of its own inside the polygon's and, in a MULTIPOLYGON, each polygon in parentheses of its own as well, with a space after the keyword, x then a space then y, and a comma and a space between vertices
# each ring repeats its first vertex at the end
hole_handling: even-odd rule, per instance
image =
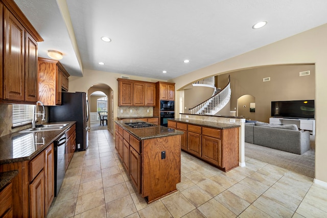
POLYGON ((0 103, 38 101, 37 42, 43 41, 11 0, 0 2, 0 103))

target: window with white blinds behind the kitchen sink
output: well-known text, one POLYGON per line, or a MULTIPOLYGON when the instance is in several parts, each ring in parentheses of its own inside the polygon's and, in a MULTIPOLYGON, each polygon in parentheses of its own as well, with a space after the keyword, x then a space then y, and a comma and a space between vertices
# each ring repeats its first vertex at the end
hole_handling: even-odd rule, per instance
POLYGON ((34 105, 12 105, 12 127, 32 123, 34 105))

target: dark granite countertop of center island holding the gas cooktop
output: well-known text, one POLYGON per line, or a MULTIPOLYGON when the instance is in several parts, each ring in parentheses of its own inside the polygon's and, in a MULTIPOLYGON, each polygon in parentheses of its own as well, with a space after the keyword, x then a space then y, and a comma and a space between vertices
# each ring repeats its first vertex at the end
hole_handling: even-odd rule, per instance
MULTIPOLYGON (((130 120, 130 122, 136 121, 137 119, 130 120)), ((131 128, 124 124, 126 123, 126 120, 116 120, 115 123, 123 127, 123 129, 134 135, 139 140, 183 134, 182 131, 157 125, 155 127, 131 128)))

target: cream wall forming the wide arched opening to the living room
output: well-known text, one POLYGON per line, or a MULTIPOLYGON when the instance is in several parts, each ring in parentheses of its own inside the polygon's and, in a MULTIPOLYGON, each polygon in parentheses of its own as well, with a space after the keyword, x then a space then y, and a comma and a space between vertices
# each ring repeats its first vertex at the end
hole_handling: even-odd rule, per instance
MULTIPOLYGON (((276 64, 315 64, 315 119, 316 119, 316 151, 315 151, 315 179, 327 185, 327 24, 312 30, 297 34, 260 49, 239 55, 211 66, 190 72, 169 82, 175 83, 175 89, 181 90, 188 84, 212 75, 249 69, 258 66, 276 64), (201 78, 199 78, 201 75, 201 78)), ((179 98, 178 91, 175 98, 179 98)), ((176 102, 179 104, 179 102, 176 102)), ((231 106, 232 107, 232 106, 231 106)), ((176 105, 178 108, 178 105, 176 105)))

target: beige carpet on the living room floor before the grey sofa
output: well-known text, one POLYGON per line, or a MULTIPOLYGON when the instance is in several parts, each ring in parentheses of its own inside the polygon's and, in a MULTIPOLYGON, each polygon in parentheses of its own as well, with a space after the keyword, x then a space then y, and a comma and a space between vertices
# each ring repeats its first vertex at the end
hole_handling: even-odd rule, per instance
POLYGON ((245 156, 288 169, 298 174, 312 178, 315 176, 314 150, 298 155, 245 142, 245 156))

